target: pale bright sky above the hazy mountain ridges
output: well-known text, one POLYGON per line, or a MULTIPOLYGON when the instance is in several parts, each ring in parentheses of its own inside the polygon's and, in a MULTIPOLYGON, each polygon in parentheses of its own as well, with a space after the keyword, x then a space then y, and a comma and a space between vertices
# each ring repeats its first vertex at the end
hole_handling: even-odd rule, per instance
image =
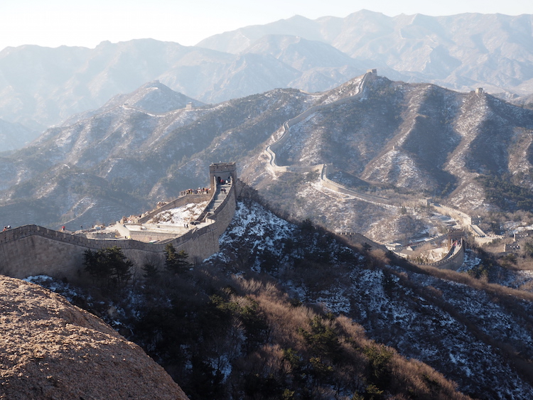
POLYGON ((465 12, 533 14, 532 0, 1 0, 0 50, 25 44, 95 48, 154 38, 195 45, 204 38, 301 15, 345 17, 367 9, 387 16, 465 12))

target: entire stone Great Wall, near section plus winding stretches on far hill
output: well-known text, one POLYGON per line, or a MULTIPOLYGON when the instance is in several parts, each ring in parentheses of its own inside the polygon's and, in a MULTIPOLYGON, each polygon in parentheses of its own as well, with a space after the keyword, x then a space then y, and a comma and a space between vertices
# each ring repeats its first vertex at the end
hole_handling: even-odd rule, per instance
MULTIPOLYGON (((276 175, 288 171, 296 173, 318 171, 321 185, 328 190, 365 202, 372 202, 381 207, 399 208, 399 205, 386 198, 360 193, 330 180, 327 164, 314 166, 278 166, 276 164, 276 151, 286 143, 291 126, 319 110, 361 99, 365 85, 372 75, 377 75, 377 71, 369 70, 363 75, 355 94, 327 104, 310 107, 297 117, 285 121, 283 126, 272 135, 271 144, 264 150, 268 157, 267 169, 270 173, 276 175)), ((147 261, 154 261, 154 259, 163 261, 163 250, 168 243, 173 244, 177 251, 183 250, 188 253, 190 261, 196 264, 219 250, 218 238, 227 229, 235 215, 237 197, 242 187, 242 182, 237 178, 235 163, 213 163, 210 166, 211 195, 205 193, 181 195, 176 200, 161 205, 134 221, 121 220, 112 229, 95 229, 82 234, 58 232, 37 225, 8 229, 0 232, 0 274, 20 279, 31 275, 46 274, 58 279, 77 281, 84 279, 82 269, 84 252, 87 249, 97 250, 112 246, 120 247, 124 255, 134 261, 136 274, 140 274, 139 269, 147 261), (229 181, 230 185, 220 183, 222 175, 224 177, 222 180, 229 181), (154 216, 166 210, 205 201, 208 205, 195 221, 191 221, 192 227, 190 228, 166 229, 157 223, 149 223, 154 216)), ((446 212, 449 207, 441 208, 446 212)), ((453 209, 448 211, 451 215, 461 213, 453 209)), ((390 250, 384 244, 372 241, 356 232, 338 233, 353 243, 366 244, 371 248, 384 251, 390 250)), ((443 259, 426 265, 443 269, 458 269, 463 264, 463 240, 458 241, 457 246, 451 247, 448 244, 448 249, 448 254, 443 259)))

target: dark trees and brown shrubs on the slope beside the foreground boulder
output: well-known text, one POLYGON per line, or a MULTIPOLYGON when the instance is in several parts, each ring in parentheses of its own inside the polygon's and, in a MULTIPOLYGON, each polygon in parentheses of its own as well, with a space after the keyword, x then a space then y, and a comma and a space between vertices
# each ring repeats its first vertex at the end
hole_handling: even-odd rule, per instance
MULTIPOLYGON (((372 267, 384 267, 386 254, 376 255, 372 267)), ((131 339, 190 399, 468 399, 350 318, 304 306, 269 276, 246 276, 215 265, 160 270, 138 293, 131 339)))

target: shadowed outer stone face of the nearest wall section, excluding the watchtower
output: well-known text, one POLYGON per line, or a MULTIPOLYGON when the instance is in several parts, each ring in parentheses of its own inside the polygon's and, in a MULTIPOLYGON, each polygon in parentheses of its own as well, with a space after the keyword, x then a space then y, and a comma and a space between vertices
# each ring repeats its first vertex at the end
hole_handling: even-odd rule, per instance
POLYGON ((237 190, 240 186, 239 180, 232 185, 225 200, 210 215, 209 225, 195 227, 183 236, 163 243, 87 239, 37 225, 25 225, 0 232, 0 274, 19 279, 45 274, 58 279, 80 281, 86 278, 82 271, 82 261, 87 249, 117 246, 134 262, 134 272, 139 277, 146 261, 164 261, 163 251, 167 243, 172 243, 177 251, 187 252, 189 261, 196 264, 218 252, 218 238, 235 215, 237 190))

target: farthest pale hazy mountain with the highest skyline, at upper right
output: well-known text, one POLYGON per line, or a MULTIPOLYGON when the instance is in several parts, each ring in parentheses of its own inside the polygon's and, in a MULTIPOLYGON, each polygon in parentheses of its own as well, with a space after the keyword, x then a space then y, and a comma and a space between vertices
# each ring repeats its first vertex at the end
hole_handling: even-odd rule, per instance
POLYGON ((457 90, 481 86, 530 93, 532 22, 529 14, 389 17, 362 10, 345 18, 295 16, 247 26, 206 38, 198 46, 237 54, 266 35, 299 36, 328 43, 350 58, 367 60, 367 67, 389 67, 415 82, 457 90))

